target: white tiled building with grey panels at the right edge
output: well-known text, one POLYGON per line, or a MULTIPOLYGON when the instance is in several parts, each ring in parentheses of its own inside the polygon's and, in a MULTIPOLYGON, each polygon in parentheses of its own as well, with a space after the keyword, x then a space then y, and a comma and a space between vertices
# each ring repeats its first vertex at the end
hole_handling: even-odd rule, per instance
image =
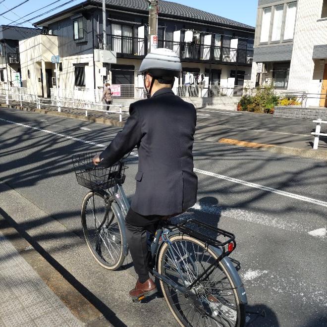
POLYGON ((327 0, 259 0, 252 84, 327 106, 327 0))

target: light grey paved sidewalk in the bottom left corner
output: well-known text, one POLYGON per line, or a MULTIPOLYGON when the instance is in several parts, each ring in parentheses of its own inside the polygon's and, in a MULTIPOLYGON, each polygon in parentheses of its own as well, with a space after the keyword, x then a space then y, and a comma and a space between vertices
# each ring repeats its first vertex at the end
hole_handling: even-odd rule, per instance
POLYGON ((0 327, 83 326, 0 231, 0 327))

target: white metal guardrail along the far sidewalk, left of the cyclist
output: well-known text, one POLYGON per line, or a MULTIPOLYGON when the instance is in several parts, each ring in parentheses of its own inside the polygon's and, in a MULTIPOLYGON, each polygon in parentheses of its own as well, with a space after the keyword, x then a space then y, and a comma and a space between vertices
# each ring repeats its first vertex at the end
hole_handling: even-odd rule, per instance
MULTIPOLYGON (((20 88, 22 89, 22 88, 20 88)), ((36 104, 37 109, 41 109, 41 105, 46 105, 50 107, 56 107, 58 112, 61 111, 62 107, 70 108, 70 109, 84 109, 85 116, 88 116, 88 111, 101 111, 101 112, 110 112, 119 114, 119 121, 122 121, 123 114, 129 114, 128 110, 123 111, 123 108, 129 108, 122 105, 107 105, 101 103, 92 103, 92 102, 83 102, 76 100, 64 100, 64 99, 47 99, 40 98, 35 95, 24 94, 23 92, 14 93, 11 90, 0 90, 0 99, 5 100, 6 105, 9 105, 9 100, 11 101, 19 101, 20 107, 23 107, 23 102, 36 104), (74 104, 83 105, 83 108, 74 106, 74 104), (104 107, 109 107, 109 110, 105 110, 104 107), (102 108, 102 109, 101 109, 102 108), (115 110, 111 110, 111 108, 115 110)))

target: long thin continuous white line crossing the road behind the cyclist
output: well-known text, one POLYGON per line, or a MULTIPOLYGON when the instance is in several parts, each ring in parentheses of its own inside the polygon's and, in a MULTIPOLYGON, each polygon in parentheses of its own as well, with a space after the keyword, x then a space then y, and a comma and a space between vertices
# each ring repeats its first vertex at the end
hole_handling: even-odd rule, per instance
MULTIPOLYGON (((95 143, 95 142, 91 142, 91 141, 85 141, 85 140, 79 139, 77 137, 72 137, 72 136, 68 136, 68 135, 64 135, 64 134, 52 132, 52 131, 49 131, 47 129, 33 127, 33 126, 29 126, 29 125, 17 123, 15 121, 3 119, 3 118, 0 118, 0 120, 5 121, 5 122, 8 122, 8 123, 11 123, 11 124, 15 124, 15 125, 18 125, 18 126, 32 128, 32 129, 39 130, 39 131, 42 131, 42 132, 45 132, 45 133, 49 133, 49 134, 53 134, 53 135, 65 137, 67 139, 71 139, 71 140, 74 140, 74 141, 78 141, 78 142, 83 142, 83 143, 95 145, 95 146, 100 147, 100 148, 106 148, 107 147, 106 145, 103 145, 103 144, 99 144, 99 143, 95 143)), ((135 153, 133 153, 133 155, 134 156, 138 156, 135 153)), ((264 186, 264 185, 260 185, 260 184, 256 184, 256 183, 247 182, 247 181, 244 181, 244 180, 241 180, 241 179, 237 179, 237 178, 233 178, 233 177, 229 177, 229 176, 224 176, 224 175, 216 174, 216 173, 211 172, 211 171, 206 171, 206 170, 197 169, 197 168, 194 168, 194 171, 195 172, 198 172, 200 174, 204 174, 204 175, 216 177, 216 178, 219 178, 219 179, 224 179, 224 180, 227 180, 229 182, 236 183, 236 184, 242 184, 242 185, 245 185, 245 186, 248 186, 248 187, 253 187, 253 188, 257 188, 257 189, 263 190, 263 191, 272 192, 272 193, 275 193, 275 194, 278 194, 278 195, 282 195, 282 196, 286 196, 286 197, 289 197, 289 198, 293 198, 293 199, 296 199, 296 200, 301 200, 301 201, 304 201, 304 202, 310 202, 310 203, 313 203, 313 204, 316 204, 316 205, 319 205, 319 206, 327 207, 327 202, 325 202, 325 201, 321 201, 321 200, 317 200, 317 199, 312 199, 312 198, 308 198, 308 197, 305 197, 305 196, 302 196, 302 195, 298 195, 298 194, 294 194, 294 193, 290 193, 290 192, 285 192, 285 191, 277 190, 277 189, 272 188, 272 187, 268 187, 268 186, 264 186)))

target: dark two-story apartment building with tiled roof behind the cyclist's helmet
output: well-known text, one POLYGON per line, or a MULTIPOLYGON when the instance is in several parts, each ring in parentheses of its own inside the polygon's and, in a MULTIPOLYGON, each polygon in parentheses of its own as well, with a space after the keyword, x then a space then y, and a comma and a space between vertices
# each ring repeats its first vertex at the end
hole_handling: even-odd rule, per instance
MULTIPOLYGON (((106 6, 111 51, 107 59, 108 52, 101 53, 102 0, 87 0, 36 22, 57 38, 60 88, 97 89, 105 80, 143 86, 138 69, 147 54, 149 3, 108 0, 106 6)), ((159 2, 158 46, 180 56, 183 75, 179 85, 200 79, 207 85, 227 87, 233 82, 242 86, 244 80, 251 79, 254 32, 251 26, 218 15, 159 2)))

